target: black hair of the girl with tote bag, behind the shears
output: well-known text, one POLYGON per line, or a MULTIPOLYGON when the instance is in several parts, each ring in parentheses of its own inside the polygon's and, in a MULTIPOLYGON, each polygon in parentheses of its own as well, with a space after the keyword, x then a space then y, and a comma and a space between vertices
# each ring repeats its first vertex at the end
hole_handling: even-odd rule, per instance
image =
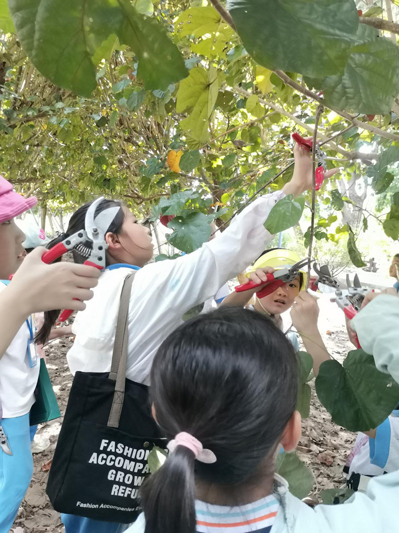
MULTIPOLYGON (((66 229, 65 233, 61 233, 58 237, 51 240, 47 244, 47 248, 52 248, 58 243, 61 243, 64 239, 67 237, 70 237, 74 233, 85 229, 85 217, 87 213, 87 209, 92 205, 92 202, 88 202, 85 205, 82 205, 73 213, 71 216, 71 220, 69 221, 68 228, 66 229)), ((123 212, 122 206, 124 204, 118 200, 107 200, 104 198, 96 207, 96 211, 94 213, 94 216, 97 216, 102 211, 105 211, 105 209, 109 207, 120 207, 118 213, 114 216, 111 224, 109 225, 107 232, 115 233, 115 235, 118 235, 121 232, 122 224, 125 218, 125 214, 123 212)), ((90 248, 91 247, 91 241, 86 241, 85 243, 81 243, 81 250, 84 248, 90 248)), ((82 264, 86 261, 87 257, 80 253, 77 249, 74 249, 72 251, 73 261, 75 263, 82 264)), ((61 259, 57 259, 56 261, 61 261, 61 259)), ((46 311, 44 313, 44 324, 40 328, 39 332, 37 333, 35 337, 35 342, 38 344, 44 344, 47 342, 48 337, 51 332, 51 328, 54 326, 55 321, 57 317, 60 314, 60 310, 54 310, 54 311, 46 311)))

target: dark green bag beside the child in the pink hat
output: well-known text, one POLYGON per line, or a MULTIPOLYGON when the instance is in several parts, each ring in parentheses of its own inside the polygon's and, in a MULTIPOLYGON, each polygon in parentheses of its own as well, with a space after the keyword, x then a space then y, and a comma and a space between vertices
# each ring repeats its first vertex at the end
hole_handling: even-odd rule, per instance
POLYGON ((39 379, 35 389, 36 401, 30 409, 31 426, 54 420, 61 416, 44 359, 40 359, 39 379))

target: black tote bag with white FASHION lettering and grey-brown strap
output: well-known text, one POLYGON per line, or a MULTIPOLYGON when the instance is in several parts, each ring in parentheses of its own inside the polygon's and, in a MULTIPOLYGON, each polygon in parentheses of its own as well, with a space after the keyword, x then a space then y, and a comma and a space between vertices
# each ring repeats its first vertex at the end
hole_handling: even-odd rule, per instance
POLYGON ((107 522, 134 522, 147 457, 165 448, 148 387, 126 379, 128 310, 134 273, 122 288, 110 373, 74 376, 47 495, 56 511, 107 522))

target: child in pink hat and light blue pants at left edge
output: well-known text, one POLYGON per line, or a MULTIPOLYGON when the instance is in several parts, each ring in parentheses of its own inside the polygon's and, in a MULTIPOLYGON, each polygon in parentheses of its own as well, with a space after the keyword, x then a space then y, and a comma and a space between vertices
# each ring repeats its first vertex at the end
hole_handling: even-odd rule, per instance
MULTIPOLYGON (((36 205, 34 197, 23 198, 0 176, 0 279, 6 282, 17 271, 24 257, 25 238, 14 217, 36 205)), ((39 365, 32 350, 34 323, 29 314, 53 308, 54 302, 72 303, 72 297, 87 299, 96 285, 96 269, 71 265, 43 265, 37 262, 44 249, 38 250, 21 275, 17 273, 9 287, 0 282, 0 404, 2 405, 2 439, 0 442, 0 531, 12 526, 22 498, 29 486, 33 463, 30 451, 29 411, 39 365), (78 267, 79 268, 79 267, 78 267), (39 275, 38 275, 39 274, 39 275), (48 274, 48 275, 47 275, 48 274), (65 276, 65 277, 63 277, 65 276), (45 277, 45 279, 43 279, 45 277), (37 287, 31 287, 37 284, 37 287), (80 289, 78 287, 87 287, 80 289), (38 293, 39 290, 39 293, 38 293), (3 294, 4 293, 4 294, 3 294), (38 303, 38 294, 41 302, 38 303), (37 308, 35 309, 35 306, 37 308), (6 437, 4 436, 6 435, 6 437)), ((73 306, 83 309, 82 302, 73 306)))

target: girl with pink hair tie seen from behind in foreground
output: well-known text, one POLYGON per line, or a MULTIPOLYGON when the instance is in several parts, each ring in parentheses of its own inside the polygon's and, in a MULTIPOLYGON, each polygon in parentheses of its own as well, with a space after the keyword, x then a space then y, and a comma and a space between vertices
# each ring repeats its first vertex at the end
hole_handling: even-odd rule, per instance
MULTIPOLYGON (((399 382, 398 321, 399 301, 385 295, 352 322, 378 368, 399 382)), ((128 532, 396 531, 399 471, 343 505, 315 508, 274 474, 280 446, 293 450, 300 437, 297 371, 284 335, 251 310, 219 309, 169 335, 154 359, 151 396, 170 455, 143 485, 144 513, 128 532)))

